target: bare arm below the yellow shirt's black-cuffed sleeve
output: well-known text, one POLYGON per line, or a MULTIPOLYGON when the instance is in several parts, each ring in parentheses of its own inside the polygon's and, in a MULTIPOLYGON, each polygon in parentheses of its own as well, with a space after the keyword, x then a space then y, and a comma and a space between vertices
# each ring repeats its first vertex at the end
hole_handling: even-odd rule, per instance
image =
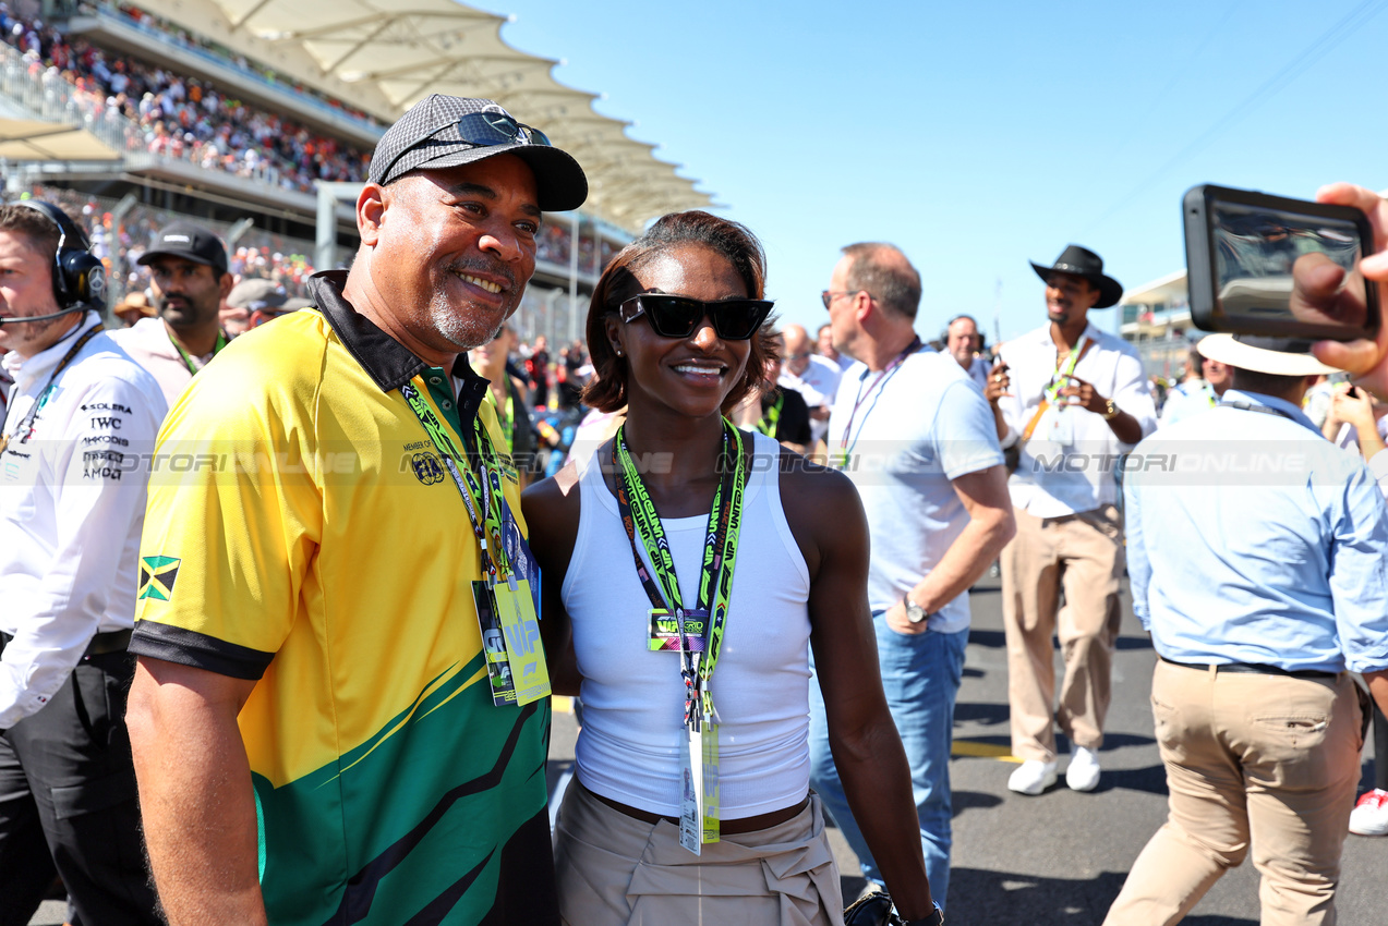
POLYGON ((254 681, 142 656, 126 725, 171 926, 266 922, 255 794, 236 715, 254 681))

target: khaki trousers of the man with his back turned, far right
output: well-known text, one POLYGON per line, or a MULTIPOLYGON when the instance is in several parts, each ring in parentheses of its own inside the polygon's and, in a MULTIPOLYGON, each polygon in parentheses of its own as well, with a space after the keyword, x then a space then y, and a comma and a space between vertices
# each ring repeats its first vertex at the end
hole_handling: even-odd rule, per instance
POLYGON ((1158 663, 1152 715, 1170 812, 1105 926, 1180 922, 1249 846, 1263 876, 1263 926, 1332 926, 1363 746, 1349 674, 1303 679, 1158 663))

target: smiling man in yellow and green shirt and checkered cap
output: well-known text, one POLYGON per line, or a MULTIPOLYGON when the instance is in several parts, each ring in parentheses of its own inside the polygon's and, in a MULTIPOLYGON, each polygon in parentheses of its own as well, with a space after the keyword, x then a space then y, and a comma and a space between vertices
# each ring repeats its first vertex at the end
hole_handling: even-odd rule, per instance
POLYGON ((351 270, 167 419, 129 726, 174 926, 558 923, 548 701, 494 699, 479 628, 529 599, 465 353, 519 305, 541 209, 586 193, 490 100, 423 100, 376 147, 351 270))

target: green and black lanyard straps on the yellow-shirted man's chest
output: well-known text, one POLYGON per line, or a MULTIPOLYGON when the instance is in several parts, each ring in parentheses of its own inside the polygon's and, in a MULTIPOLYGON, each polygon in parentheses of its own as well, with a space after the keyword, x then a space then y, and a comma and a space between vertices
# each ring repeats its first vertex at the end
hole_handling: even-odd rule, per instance
POLYGON ((443 456, 444 467, 452 477, 458 495, 462 496, 468 520, 472 521, 472 532, 482 552, 482 573, 489 585, 504 581, 514 589, 516 579, 501 541, 501 466, 491 437, 482 426, 482 417, 472 419, 477 452, 465 453, 412 383, 400 387, 400 394, 405 396, 409 410, 419 419, 434 449, 443 456))

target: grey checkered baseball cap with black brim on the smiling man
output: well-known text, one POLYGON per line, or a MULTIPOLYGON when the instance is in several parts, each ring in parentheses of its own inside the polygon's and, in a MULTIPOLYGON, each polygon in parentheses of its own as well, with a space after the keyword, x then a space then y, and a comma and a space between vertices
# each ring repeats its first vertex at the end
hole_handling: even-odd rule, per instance
POLYGON ((458 121, 479 112, 497 112, 516 122, 493 100, 434 93, 409 107, 376 143, 371 182, 384 186, 409 171, 455 168, 498 154, 514 154, 534 172, 541 209, 565 212, 583 205, 589 180, 573 155, 547 144, 534 144, 525 133, 501 144, 466 141, 458 132, 458 121))

